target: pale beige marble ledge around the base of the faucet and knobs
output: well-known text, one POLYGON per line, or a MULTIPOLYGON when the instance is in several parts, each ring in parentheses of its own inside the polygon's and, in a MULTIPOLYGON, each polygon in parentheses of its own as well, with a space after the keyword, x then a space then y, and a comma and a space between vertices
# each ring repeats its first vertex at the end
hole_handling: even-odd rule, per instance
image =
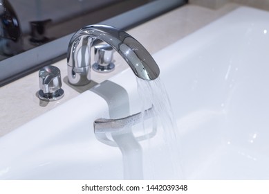
MULTIPOLYGON (((189 4, 132 28, 127 33, 138 39, 149 53, 154 54, 238 7, 238 4, 228 3, 218 10, 212 10, 189 4)), ((128 68, 128 65, 118 54, 114 55, 114 60, 115 71, 106 74, 92 71, 92 79, 97 83, 102 82, 115 75, 115 73, 128 68)), ((45 103, 37 98, 37 91, 39 91, 38 72, 0 88, 0 136, 15 130, 24 123, 44 114, 44 112, 48 112, 91 87, 89 85, 73 88, 68 85, 66 81, 66 59, 53 65, 58 67, 62 73, 64 98, 61 100, 45 103)))

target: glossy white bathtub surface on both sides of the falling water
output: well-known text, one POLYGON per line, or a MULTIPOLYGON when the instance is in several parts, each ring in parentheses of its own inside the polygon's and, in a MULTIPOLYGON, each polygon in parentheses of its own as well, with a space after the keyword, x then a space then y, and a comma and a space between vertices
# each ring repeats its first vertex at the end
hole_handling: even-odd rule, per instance
MULTIPOLYGON (((269 13, 239 8, 154 55, 178 125, 184 179, 269 179, 268 52, 269 13)), ((130 113, 139 112, 131 69, 109 81, 128 92, 130 113)), ((93 133, 107 112, 86 91, 1 137, 0 179, 122 179, 120 150, 93 133)), ((158 157, 154 178, 173 178, 162 166, 165 150, 154 147, 159 139, 157 131, 143 155, 158 157)))

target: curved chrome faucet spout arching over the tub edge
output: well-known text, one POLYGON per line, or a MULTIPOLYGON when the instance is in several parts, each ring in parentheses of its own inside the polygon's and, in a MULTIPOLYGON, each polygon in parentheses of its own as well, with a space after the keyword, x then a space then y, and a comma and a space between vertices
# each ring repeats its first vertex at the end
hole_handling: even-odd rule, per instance
POLYGON ((104 25, 86 26, 75 33, 68 45, 68 80, 73 85, 86 85, 91 80, 91 46, 100 39, 118 51, 133 73, 143 80, 158 78, 160 69, 142 44, 131 35, 104 25))

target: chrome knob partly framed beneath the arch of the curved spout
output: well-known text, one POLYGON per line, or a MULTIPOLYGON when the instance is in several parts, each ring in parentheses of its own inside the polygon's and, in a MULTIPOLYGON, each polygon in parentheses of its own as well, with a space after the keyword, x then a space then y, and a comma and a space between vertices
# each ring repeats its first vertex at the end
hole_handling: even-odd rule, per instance
POLYGON ((109 73, 115 68, 113 64, 113 48, 109 44, 100 44, 94 47, 93 70, 100 73, 109 73))

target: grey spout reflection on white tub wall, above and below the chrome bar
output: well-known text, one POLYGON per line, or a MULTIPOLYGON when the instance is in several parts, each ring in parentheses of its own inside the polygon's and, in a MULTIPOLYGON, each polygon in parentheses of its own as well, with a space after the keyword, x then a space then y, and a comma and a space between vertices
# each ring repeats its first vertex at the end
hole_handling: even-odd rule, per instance
MULTIPOLYGON (((102 84, 91 89, 91 91, 102 96, 109 105, 110 118, 123 118, 129 115, 129 98, 127 91, 120 85, 106 80, 102 84), (111 92, 113 91, 113 92, 111 92), (118 95, 121 96, 118 100, 118 95)), ((106 132, 95 134, 102 143, 111 145, 107 142, 107 136, 111 136, 113 143, 122 152, 123 178, 124 179, 143 179, 142 168, 142 148, 131 131, 130 126, 125 126, 124 130, 118 132, 106 132)))

